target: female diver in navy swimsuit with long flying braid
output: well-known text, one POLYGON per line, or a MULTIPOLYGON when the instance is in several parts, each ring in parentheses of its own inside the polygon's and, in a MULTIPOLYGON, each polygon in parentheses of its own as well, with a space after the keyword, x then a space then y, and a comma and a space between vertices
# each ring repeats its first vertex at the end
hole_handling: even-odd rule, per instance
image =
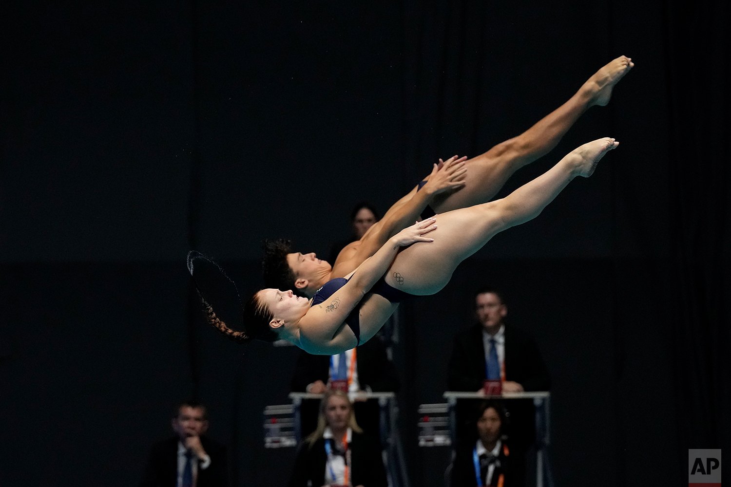
MULTIPOLYGON (((196 280, 208 321, 239 342, 287 340, 321 355, 355 348, 379 331, 399 302, 438 292, 464 259, 499 232, 537 217, 575 177, 591 176, 618 144, 608 137, 588 142, 502 199, 442 213, 439 228, 436 218, 428 218, 399 231, 347 277, 325 284, 313 299, 291 290, 257 292, 243 310, 246 331, 234 331, 221 321, 196 280)), ((201 258, 189 255, 194 278, 201 258)))

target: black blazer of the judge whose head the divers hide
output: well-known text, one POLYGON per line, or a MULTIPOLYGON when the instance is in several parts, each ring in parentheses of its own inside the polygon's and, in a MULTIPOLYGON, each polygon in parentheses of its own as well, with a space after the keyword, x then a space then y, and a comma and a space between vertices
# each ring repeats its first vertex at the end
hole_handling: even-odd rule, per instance
MULTIPOLYGON (((388 360, 386 347, 379 337, 373 337, 357 347, 355 367, 361 389, 370 387, 374 392, 398 391, 396 369, 393 367, 393 362, 388 360)), ((292 377, 292 391, 305 392, 308 384, 316 380, 322 380, 327 384, 328 377, 330 377, 330 356, 310 355, 301 350, 295 375, 292 377)))

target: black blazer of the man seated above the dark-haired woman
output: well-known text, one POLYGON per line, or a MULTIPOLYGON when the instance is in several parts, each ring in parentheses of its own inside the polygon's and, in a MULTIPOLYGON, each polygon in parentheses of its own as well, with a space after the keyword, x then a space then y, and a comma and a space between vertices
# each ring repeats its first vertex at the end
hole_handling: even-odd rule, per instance
MULTIPOLYGON (((450 391, 477 391, 485 382, 485 347, 482 325, 460 331, 449 364, 450 391)), ((526 391, 548 391, 550 376, 536 343, 524 331, 505 325, 505 380, 526 391)))

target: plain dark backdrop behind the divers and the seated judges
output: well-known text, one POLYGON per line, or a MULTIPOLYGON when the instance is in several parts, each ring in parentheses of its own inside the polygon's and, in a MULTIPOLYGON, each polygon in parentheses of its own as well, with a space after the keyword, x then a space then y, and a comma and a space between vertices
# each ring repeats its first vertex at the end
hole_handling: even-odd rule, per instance
POLYGON ((287 402, 297 351, 205 328, 186 250, 252 288, 262 237, 327 253, 353 203, 385 210, 620 54, 637 66, 610 106, 506 191, 580 143, 621 147, 404 307, 412 483, 446 466, 409 433, 480 283, 545 354, 559 485, 683 485, 688 448, 728 446, 725 4, 0 8, 1 485, 133 485, 185 396, 209 404, 236 485, 283 482, 293 452, 263 448, 261 412, 287 402))

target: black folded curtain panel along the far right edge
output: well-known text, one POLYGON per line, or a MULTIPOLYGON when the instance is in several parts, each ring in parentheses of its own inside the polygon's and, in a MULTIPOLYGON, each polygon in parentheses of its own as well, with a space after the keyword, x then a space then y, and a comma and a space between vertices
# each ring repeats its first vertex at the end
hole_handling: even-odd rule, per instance
MULTIPOLYGON (((727 303, 731 248, 728 96, 719 72, 729 64, 728 9, 703 3, 667 11, 670 93, 668 160, 670 255, 667 310, 681 445, 728 447, 731 404, 727 303), (694 67, 685 69, 683 59, 694 67), (714 95, 712 93, 718 93, 714 95), (684 420, 684 421, 683 421, 684 420)), ((682 452, 680 461, 683 459, 682 452)))

